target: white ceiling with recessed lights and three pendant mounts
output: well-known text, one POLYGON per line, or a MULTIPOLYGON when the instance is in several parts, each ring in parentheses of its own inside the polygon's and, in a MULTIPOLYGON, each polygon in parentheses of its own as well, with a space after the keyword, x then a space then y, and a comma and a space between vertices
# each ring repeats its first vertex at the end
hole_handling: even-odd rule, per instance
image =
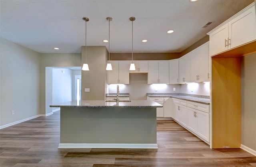
POLYGON ((181 52, 254 0, 0 0, 0 36, 40 53, 81 53, 85 45, 110 52, 181 52), (202 28, 208 21, 214 23, 202 28), (174 33, 166 31, 173 29, 174 33), (148 42, 142 43, 142 39, 148 42), (54 50, 59 47, 60 50, 54 50))

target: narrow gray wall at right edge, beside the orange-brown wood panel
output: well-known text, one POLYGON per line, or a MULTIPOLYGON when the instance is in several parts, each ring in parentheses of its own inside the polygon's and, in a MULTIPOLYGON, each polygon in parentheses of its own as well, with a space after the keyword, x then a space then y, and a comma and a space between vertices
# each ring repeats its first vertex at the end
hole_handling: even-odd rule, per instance
POLYGON ((241 59, 242 144, 256 150, 256 53, 241 59))

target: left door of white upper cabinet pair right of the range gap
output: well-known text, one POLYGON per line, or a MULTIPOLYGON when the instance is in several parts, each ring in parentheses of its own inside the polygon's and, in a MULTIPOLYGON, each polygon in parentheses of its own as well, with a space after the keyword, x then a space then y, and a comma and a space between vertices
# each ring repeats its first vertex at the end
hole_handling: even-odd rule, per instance
POLYGON ((148 61, 148 84, 158 83, 158 61, 148 61))

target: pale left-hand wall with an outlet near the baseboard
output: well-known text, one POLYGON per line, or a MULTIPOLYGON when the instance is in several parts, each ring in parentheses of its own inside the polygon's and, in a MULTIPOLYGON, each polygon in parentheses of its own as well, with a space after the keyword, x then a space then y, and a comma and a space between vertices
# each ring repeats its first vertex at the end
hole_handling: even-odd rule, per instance
POLYGON ((40 53, 0 38, 0 126, 38 114, 40 53))

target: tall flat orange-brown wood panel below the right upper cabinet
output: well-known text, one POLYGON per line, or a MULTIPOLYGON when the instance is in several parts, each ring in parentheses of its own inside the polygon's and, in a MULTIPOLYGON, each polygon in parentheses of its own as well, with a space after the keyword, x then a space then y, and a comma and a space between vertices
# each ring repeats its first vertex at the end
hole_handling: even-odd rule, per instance
POLYGON ((240 57, 212 57, 212 147, 240 144, 240 57))

